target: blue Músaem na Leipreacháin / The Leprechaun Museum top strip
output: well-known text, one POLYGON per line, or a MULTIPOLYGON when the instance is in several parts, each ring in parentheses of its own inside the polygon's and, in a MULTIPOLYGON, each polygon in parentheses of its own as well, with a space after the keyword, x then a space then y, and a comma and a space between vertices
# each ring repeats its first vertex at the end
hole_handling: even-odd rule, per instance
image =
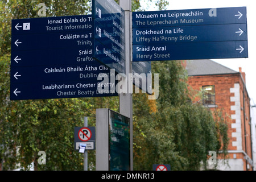
POLYGON ((246 7, 133 12, 133 28, 246 22, 246 7))

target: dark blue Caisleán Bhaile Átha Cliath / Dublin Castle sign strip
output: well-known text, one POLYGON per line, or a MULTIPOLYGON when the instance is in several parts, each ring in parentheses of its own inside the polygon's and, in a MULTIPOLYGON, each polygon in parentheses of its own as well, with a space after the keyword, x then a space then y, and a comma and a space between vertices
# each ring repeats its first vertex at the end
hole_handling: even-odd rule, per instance
POLYGON ((54 82, 54 81, 77 81, 97 80, 100 73, 110 76, 110 69, 101 63, 86 65, 44 65, 36 67, 12 67, 11 82, 54 82))

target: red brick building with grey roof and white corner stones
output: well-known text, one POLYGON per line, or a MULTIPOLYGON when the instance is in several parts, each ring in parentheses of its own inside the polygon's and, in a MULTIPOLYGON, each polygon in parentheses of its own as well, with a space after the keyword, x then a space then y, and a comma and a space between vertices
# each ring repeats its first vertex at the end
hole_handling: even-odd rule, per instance
POLYGON ((212 60, 187 60, 188 84, 201 90, 201 102, 210 109, 223 109, 228 116, 229 166, 220 163, 220 170, 252 170, 253 156, 250 129, 250 98, 245 84, 245 73, 233 71, 212 60))

